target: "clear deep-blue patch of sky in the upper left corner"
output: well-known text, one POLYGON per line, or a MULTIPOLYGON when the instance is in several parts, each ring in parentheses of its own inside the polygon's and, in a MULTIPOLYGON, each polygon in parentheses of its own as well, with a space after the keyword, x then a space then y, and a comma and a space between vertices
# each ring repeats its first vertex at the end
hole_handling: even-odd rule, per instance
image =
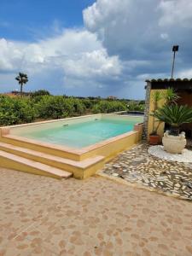
POLYGON ((52 35, 54 26, 84 26, 82 11, 93 0, 1 0, 0 35, 33 41, 52 35))

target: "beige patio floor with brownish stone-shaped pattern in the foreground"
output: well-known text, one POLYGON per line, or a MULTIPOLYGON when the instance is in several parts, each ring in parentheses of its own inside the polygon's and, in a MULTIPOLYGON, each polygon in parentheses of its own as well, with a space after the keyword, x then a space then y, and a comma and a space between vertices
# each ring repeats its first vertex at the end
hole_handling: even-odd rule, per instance
POLYGON ((0 255, 192 255, 192 204, 102 177, 0 170, 0 255))

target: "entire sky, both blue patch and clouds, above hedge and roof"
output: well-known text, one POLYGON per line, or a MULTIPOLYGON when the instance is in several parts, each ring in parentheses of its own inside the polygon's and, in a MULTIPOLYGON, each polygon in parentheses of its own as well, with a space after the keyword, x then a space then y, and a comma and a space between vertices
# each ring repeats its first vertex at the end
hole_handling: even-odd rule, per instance
POLYGON ((146 79, 192 78, 191 0, 0 0, 0 92, 143 99, 146 79))

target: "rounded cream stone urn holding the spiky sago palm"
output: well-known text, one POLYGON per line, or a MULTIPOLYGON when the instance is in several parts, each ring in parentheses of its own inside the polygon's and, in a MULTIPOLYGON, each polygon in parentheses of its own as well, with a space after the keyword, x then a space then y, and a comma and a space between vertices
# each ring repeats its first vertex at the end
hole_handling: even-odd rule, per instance
POLYGON ((164 133, 162 138, 162 143, 164 150, 172 154, 182 154, 183 149, 185 148, 187 141, 185 139, 185 133, 182 132, 179 136, 169 135, 168 131, 164 133))

